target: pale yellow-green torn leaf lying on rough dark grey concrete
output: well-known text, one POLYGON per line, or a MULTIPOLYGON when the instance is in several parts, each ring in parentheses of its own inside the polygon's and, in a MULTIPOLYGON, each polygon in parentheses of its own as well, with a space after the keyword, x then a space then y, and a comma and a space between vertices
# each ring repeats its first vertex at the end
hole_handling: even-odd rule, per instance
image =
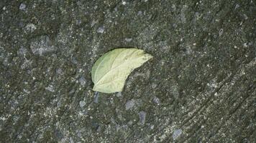
POLYGON ((142 49, 114 49, 101 56, 93 65, 91 79, 93 91, 122 92, 125 80, 137 67, 151 59, 142 49))

